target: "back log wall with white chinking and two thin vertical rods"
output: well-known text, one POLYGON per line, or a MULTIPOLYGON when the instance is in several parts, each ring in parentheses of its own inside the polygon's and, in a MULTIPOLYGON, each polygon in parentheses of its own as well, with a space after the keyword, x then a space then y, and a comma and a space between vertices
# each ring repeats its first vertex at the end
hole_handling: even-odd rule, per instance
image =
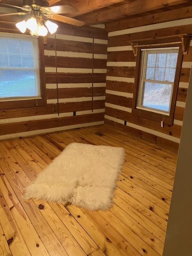
MULTIPOLYGON (((12 25, 1 28, 1 31, 17 33, 12 25)), ((56 39, 50 35, 44 45, 47 105, 0 110, 0 140, 102 124, 105 110, 107 39, 105 29, 77 28, 60 23, 56 39), (92 102, 93 35, 95 43, 92 102), (59 72, 59 116, 55 42, 59 72)))

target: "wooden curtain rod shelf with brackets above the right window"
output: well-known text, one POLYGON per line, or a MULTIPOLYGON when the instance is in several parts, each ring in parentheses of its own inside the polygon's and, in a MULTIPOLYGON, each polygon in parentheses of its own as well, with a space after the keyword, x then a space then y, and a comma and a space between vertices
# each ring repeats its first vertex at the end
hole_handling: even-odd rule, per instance
POLYGON ((130 42, 131 47, 134 53, 134 56, 137 56, 137 49, 138 47, 147 47, 147 46, 162 46, 162 45, 170 45, 170 44, 181 44, 182 49, 183 49, 183 54, 188 53, 189 45, 190 45, 190 38, 192 37, 191 34, 180 34, 180 35, 173 35, 173 36, 161 36, 161 37, 156 37, 156 38, 147 38, 147 39, 138 39, 135 42, 130 42), (177 42, 166 42, 166 43, 159 43, 159 44, 138 44, 138 42, 147 42, 147 41, 155 41, 157 39, 169 39, 169 38, 176 38, 177 40, 180 38, 181 41, 177 42))

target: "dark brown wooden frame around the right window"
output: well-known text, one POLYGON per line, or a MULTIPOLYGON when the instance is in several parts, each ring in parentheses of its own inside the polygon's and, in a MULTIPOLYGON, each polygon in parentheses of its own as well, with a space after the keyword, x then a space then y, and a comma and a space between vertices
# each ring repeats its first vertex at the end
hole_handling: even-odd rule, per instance
MULTIPOLYGON (((162 43, 162 42, 161 42, 162 43)), ((158 44, 158 42, 155 42, 158 44)), ((152 48, 168 48, 168 47, 179 47, 178 59, 177 59, 177 66, 175 71, 175 80, 173 85, 173 93, 172 93, 172 101, 171 101, 171 108, 169 116, 164 116, 164 124, 172 125, 173 118, 174 118, 174 111, 177 101, 177 92, 179 87, 179 80, 180 80, 180 71, 182 66, 182 59, 183 59, 183 49, 180 43, 178 44, 167 44, 167 45, 153 45, 153 46, 140 46, 137 48, 137 59, 136 59, 136 77, 134 83, 134 92, 133 92, 133 104, 132 104, 132 114, 139 117, 144 117, 149 120, 153 120, 156 122, 161 122, 163 118, 163 114, 155 113, 152 111, 147 111, 144 109, 136 108, 137 105, 137 95, 139 89, 139 75, 140 75, 140 57, 141 57, 141 49, 152 49, 152 48)))

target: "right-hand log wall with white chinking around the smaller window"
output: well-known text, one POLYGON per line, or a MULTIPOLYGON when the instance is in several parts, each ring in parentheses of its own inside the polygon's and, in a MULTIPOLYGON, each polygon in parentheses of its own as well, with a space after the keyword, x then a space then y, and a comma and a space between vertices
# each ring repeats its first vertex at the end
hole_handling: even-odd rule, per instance
POLYGON ((164 124, 164 128, 162 128, 158 122, 134 116, 131 113, 136 60, 127 41, 180 33, 190 34, 192 20, 175 20, 171 23, 148 24, 143 27, 136 27, 137 22, 135 25, 129 26, 129 21, 123 22, 122 30, 115 31, 117 22, 114 22, 114 30, 111 23, 107 27, 110 32, 108 33, 105 122, 135 136, 177 151, 192 64, 192 42, 188 54, 183 56, 174 124, 172 126, 164 124), (128 29, 123 29, 126 26, 128 29))

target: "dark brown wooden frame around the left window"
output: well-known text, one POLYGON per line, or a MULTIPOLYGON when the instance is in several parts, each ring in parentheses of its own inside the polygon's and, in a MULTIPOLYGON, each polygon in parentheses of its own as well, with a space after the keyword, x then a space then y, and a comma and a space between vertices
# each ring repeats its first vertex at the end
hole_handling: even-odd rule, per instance
MULTIPOLYGON (((21 35, 22 36, 22 35, 21 35)), ((44 64, 44 38, 38 37, 39 43, 39 56, 40 56, 40 81, 41 81, 41 99, 28 99, 28 100, 9 100, 0 101, 0 109, 9 108, 24 108, 24 107, 40 107, 46 106, 46 82, 45 82, 45 64, 44 64)))

